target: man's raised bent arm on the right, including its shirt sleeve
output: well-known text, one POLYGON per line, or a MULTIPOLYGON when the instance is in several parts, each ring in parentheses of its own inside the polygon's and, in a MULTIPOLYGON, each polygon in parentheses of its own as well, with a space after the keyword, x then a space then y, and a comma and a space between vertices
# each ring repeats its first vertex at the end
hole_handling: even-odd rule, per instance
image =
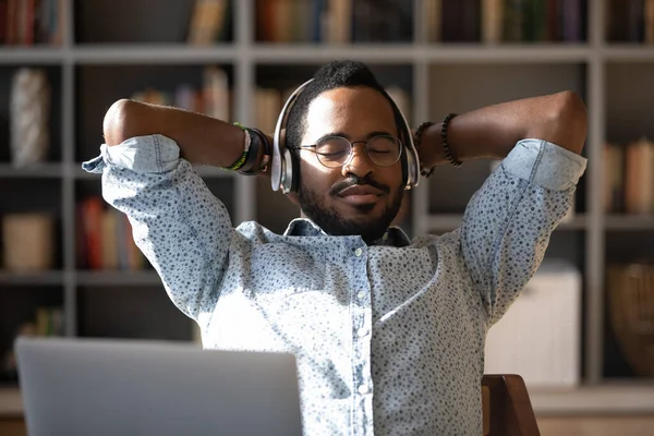
MULTIPOLYGON (((426 134, 419 145, 423 165, 445 162, 440 125, 426 134)), ((579 156, 585 136, 585 108, 572 93, 482 108, 449 125, 448 143, 459 160, 504 158, 470 201, 458 230, 463 265, 489 324, 536 271, 552 231, 569 210, 585 170, 579 156)))

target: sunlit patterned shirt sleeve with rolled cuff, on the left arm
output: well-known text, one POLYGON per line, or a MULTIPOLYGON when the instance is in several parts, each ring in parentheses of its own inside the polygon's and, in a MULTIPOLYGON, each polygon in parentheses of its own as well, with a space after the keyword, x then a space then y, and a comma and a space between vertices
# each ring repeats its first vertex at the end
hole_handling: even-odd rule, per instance
POLYGON ((102 144, 83 169, 102 174, 102 197, 128 216, 172 302, 197 319, 216 301, 228 263, 233 229, 225 205, 162 135, 102 144))

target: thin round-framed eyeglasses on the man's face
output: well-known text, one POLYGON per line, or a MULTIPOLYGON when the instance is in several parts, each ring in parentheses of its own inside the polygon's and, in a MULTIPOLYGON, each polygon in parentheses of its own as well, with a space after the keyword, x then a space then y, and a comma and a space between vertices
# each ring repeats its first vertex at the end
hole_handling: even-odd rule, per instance
POLYGON ((327 168, 339 168, 352 156, 354 144, 365 144, 365 155, 377 167, 390 167, 402 154, 402 143, 395 136, 376 135, 367 141, 348 141, 342 136, 324 136, 314 145, 300 145, 295 149, 311 149, 327 168))

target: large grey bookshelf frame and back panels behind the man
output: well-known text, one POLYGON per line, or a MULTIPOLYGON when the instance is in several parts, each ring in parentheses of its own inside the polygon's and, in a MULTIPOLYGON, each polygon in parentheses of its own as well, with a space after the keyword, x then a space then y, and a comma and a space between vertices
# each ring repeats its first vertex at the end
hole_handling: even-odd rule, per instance
MULTIPOLYGON (((408 1, 412 11, 422 11, 428 0, 408 1)), ((22 306, 26 313, 52 303, 62 307, 66 336, 191 340, 191 323, 167 301, 154 271, 80 268, 76 204, 100 192, 99 178, 82 171, 80 164, 97 155, 106 109, 148 84, 161 88, 171 88, 175 81, 199 85, 202 69, 215 65, 227 72, 233 120, 247 124, 256 118, 252 107, 258 86, 287 87, 328 60, 359 59, 371 64, 383 84, 397 85, 411 96, 414 125, 440 119, 447 111, 564 88, 582 95, 589 108, 584 152, 589 168, 578 190, 576 215, 555 232, 547 256, 565 257, 583 272, 583 364, 579 368, 583 384, 570 391, 534 392, 532 401, 543 413, 654 412, 653 380, 637 378, 623 362, 607 359, 607 353, 616 352, 615 339, 605 332, 607 262, 630 258, 634 246, 654 257, 654 217, 604 211, 604 143, 632 141, 643 134, 654 138, 650 116, 654 90, 643 86, 654 73, 654 45, 607 40, 604 23, 609 0, 588 2, 584 41, 543 44, 433 43, 421 13, 411 14, 411 41, 267 43, 259 41, 255 32, 256 1, 238 0, 229 10, 232 20, 223 40, 189 46, 183 41, 193 0, 168 1, 173 8, 160 3, 62 1, 65 25, 60 46, 0 47, 0 117, 8 117, 10 76, 20 66, 45 69, 53 92, 47 162, 12 167, 9 135, 0 136, 0 215, 47 210, 55 214, 60 234, 55 269, 0 272, 3 330, 16 327, 2 325, 14 307, 22 306), (107 23, 123 23, 123 27, 107 23), (120 308, 124 304, 118 304, 123 302, 138 307, 126 312, 120 308), (153 310, 144 310, 147 306, 153 310), (112 308, 118 313, 111 314, 112 308)), ((2 125, 0 133, 5 133, 2 125)), ((281 231, 296 214, 281 194, 270 193, 266 180, 208 168, 198 172, 226 203, 234 223, 257 219, 281 231)), ((474 162, 458 171, 444 167, 423 181, 411 194, 407 230, 419 234, 456 228, 464 204, 488 173, 488 162, 474 162)), ((8 334, 3 335, 1 352, 9 343, 8 334)), ((0 393, 2 413, 2 398, 15 404, 11 396, 17 393, 15 389, 0 393)))

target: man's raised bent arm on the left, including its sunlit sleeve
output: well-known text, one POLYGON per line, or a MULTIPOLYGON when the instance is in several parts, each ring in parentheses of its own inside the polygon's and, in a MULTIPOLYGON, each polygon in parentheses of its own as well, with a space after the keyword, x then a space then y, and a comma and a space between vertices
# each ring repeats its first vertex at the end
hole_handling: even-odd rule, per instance
POLYGON ((191 164, 229 167, 243 152, 243 131, 198 113, 119 100, 104 133, 101 155, 84 168, 102 173, 104 198, 129 217, 173 303, 194 319, 210 313, 230 249, 245 245, 191 164))

